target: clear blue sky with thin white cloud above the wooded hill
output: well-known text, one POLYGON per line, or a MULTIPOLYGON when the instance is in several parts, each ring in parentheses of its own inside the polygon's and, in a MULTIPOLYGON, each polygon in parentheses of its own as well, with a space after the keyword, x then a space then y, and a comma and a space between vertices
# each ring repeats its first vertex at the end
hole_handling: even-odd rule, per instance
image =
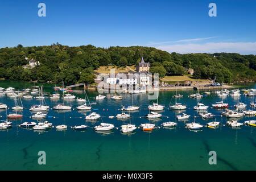
POLYGON ((93 44, 256 54, 254 0, 0 1, 0 47, 93 44), (38 4, 46 3, 46 17, 38 4), (217 5, 217 17, 208 5, 217 5))

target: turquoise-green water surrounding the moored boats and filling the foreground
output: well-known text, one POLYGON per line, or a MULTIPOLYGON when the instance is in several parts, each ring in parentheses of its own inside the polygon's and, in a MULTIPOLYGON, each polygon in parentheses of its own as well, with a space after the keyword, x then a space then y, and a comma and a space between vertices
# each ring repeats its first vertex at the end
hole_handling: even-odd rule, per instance
MULTIPOLYGON (((27 88, 31 84, 24 82, 0 82, 0 86, 14 86, 15 88, 27 88)), ((45 85, 46 92, 52 92, 52 85, 45 85)), ((246 88, 255 88, 255 85, 246 88)), ((192 109, 196 100, 188 98, 193 90, 179 92, 184 95, 179 100, 185 103, 188 109, 185 113, 198 116, 192 109)), ((97 92, 89 92, 90 101, 94 101, 97 92)), ((159 104, 166 105, 162 114, 164 117, 155 122, 160 126, 162 122, 175 121, 178 112, 168 110, 170 101, 175 92, 159 92, 159 104), (167 118, 168 117, 168 118, 167 118)), ((82 97, 81 94, 76 94, 82 97)), ((107 95, 110 97, 110 94, 107 95)), ((104 121, 113 123, 116 127, 124 122, 117 119, 109 119, 109 115, 121 113, 121 105, 131 104, 131 95, 123 94, 124 99, 113 101, 106 99, 96 101, 93 108, 101 114, 102 120, 96 123, 85 122, 84 117, 90 112, 77 110, 57 112, 49 110, 48 115, 55 118, 47 118, 53 125, 66 124, 68 126, 86 124, 90 127, 104 121), (82 117, 82 118, 80 118, 82 117)), ((242 102, 250 104, 251 97, 241 96, 242 102)), ((39 101, 22 100, 26 108, 37 104, 39 101)), ((200 100, 210 106, 216 101, 221 101, 216 95, 206 96, 200 100)), ((225 102, 230 106, 237 100, 227 97, 225 102)), ((14 105, 14 100, 8 97, 0 97, 0 102, 9 107, 14 105)), ((54 106, 62 101, 50 101, 49 106, 54 106)), ((131 122, 135 125, 146 123, 146 118, 140 118, 148 113, 147 106, 152 101, 147 100, 147 94, 134 94, 134 104, 141 106, 139 111, 132 114, 131 122)), ((75 108, 75 101, 68 102, 75 108)), ((249 107, 247 107, 249 109, 249 107)), ((220 117, 221 110, 208 109, 216 114, 216 121, 225 124, 226 118, 220 117)), ((0 111, 2 119, 5 119, 5 110, 0 111)), ((256 169, 256 128, 243 126, 242 129, 230 129, 222 126, 216 130, 204 128, 197 133, 184 128, 183 122, 178 122, 175 129, 156 129, 152 133, 137 130, 134 134, 123 135, 119 130, 110 134, 96 133, 88 128, 84 132, 73 131, 70 127, 67 131, 49 130, 38 133, 33 130, 24 130, 16 127, 19 123, 32 121, 32 113, 28 109, 23 111, 22 121, 14 121, 14 127, 7 131, 0 131, 0 169, 1 170, 255 170, 256 169), (217 165, 209 165, 209 151, 217 152, 217 165), (38 151, 46 151, 46 165, 38 164, 38 151)), ((256 119, 255 117, 243 117, 241 122, 256 119)), ((192 122, 193 119, 189 122, 192 122)), ((197 117, 196 122, 205 125, 206 122, 197 117)))

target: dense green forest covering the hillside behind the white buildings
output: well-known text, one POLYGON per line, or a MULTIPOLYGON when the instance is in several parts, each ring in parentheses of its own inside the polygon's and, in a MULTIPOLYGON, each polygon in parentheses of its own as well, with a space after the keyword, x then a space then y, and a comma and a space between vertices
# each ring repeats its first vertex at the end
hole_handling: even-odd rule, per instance
POLYGON ((184 75, 194 69, 195 78, 217 78, 218 82, 256 81, 256 56, 238 53, 168 53, 152 47, 109 47, 92 45, 68 47, 59 43, 51 46, 0 49, 0 78, 65 84, 77 82, 93 83, 94 69, 101 65, 138 64, 144 57, 150 62, 152 73, 160 77, 184 75), (32 69, 23 68, 26 59, 34 59, 40 65, 32 69))

